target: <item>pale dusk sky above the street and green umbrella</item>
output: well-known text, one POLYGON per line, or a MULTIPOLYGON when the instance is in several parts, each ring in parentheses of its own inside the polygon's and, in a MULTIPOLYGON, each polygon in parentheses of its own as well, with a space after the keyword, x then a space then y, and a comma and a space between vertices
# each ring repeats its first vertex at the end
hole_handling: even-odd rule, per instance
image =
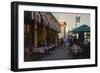
MULTIPOLYGON (((58 21, 65 21, 67 24, 67 28, 72 30, 76 28, 76 15, 75 13, 52 13, 58 21)), ((77 27, 85 24, 90 26, 90 14, 79 14, 80 15, 80 23, 77 24, 77 27)))

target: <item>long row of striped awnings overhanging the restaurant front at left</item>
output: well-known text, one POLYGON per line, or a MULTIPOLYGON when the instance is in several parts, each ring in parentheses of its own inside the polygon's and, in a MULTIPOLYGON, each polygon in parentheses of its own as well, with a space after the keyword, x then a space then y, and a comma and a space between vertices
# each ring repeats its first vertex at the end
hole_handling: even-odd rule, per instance
POLYGON ((33 20, 40 23, 40 25, 54 30, 55 32, 60 32, 60 26, 50 12, 25 11, 24 23, 30 24, 33 20))

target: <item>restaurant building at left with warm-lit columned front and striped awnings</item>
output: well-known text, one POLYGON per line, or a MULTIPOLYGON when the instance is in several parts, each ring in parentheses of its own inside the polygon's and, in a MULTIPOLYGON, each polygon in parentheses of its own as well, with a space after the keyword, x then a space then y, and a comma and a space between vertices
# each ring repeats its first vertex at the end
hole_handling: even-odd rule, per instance
POLYGON ((41 47, 41 42, 46 46, 58 46, 60 32, 59 22, 52 13, 24 11, 24 48, 32 50, 41 47))

